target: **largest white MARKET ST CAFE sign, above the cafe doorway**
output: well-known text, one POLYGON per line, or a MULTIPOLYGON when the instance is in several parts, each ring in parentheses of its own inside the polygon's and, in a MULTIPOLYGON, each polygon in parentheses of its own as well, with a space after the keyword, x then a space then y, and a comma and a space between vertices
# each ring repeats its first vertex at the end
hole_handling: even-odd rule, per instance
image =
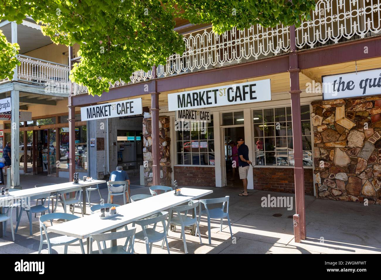
POLYGON ((270 79, 168 94, 168 110, 197 109, 271 100, 270 79))

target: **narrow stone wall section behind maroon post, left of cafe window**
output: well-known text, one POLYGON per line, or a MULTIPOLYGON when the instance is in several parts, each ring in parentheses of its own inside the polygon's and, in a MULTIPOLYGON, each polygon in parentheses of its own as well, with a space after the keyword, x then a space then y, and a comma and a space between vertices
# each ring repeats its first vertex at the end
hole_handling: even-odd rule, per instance
MULTIPOLYGON (((143 160, 147 165, 144 167, 144 185, 152 186, 152 120, 143 118, 143 160)), ((171 158, 170 158, 170 118, 159 117, 160 136, 160 185, 171 186, 171 158)))

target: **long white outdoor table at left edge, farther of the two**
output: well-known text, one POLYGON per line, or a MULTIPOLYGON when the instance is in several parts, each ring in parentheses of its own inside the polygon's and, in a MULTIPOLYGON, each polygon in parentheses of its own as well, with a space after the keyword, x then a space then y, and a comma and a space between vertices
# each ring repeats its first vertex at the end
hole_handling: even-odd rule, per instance
MULTIPOLYGON (((105 183, 104 180, 93 180, 93 181, 80 181, 78 184, 73 182, 66 182, 56 185, 43 186, 38 188, 30 188, 23 190, 16 190, 10 192, 8 195, 0 196, 0 214, 2 213, 2 208, 4 205, 8 205, 10 201, 16 203, 16 200, 21 198, 32 197, 35 195, 48 194, 48 193, 58 193, 63 191, 70 191, 75 189, 82 189, 82 200, 83 205, 86 205, 86 187, 94 186, 97 184, 105 183)), ((86 214, 86 206, 83 207, 83 214, 86 214)), ((0 237, 3 237, 3 223, 0 222, 0 237)))

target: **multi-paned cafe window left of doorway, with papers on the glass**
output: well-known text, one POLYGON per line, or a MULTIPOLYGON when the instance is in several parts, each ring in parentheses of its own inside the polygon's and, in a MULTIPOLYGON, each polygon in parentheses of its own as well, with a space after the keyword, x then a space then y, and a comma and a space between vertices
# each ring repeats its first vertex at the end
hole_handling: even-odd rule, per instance
POLYGON ((200 122, 200 127, 178 122, 176 130, 178 165, 215 165, 213 115, 210 123, 200 122))

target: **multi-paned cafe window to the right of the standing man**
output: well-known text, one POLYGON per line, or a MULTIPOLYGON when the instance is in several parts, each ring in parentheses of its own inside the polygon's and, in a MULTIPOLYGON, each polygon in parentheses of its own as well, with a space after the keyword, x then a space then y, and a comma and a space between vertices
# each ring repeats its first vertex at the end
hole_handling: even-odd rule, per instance
MULTIPOLYGON (((301 107, 303 165, 312 166, 310 107, 301 107)), ((255 165, 294 166, 291 107, 253 110, 255 165)))

